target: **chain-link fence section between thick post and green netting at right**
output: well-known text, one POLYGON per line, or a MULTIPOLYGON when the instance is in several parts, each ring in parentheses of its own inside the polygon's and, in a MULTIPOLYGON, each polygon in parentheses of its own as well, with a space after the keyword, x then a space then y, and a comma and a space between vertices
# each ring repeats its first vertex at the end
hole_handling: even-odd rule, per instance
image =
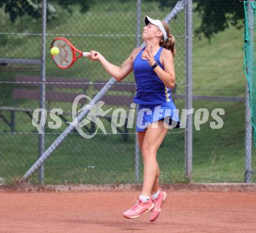
MULTIPOLYGON (((200 130, 194 130, 193 177, 200 182, 243 182, 246 174, 243 3, 216 1, 208 4, 205 9, 208 17, 204 17, 204 23, 211 25, 209 27, 214 28, 214 32, 218 34, 210 40, 204 38, 204 35, 194 37, 193 107, 207 108, 211 121, 213 110, 216 108, 222 108, 225 115, 221 115, 221 112, 218 114, 223 119, 221 129, 211 129, 208 121, 200 127, 200 130), (226 14, 223 14, 225 11, 226 14), (241 19, 237 21, 236 26, 225 21, 228 17, 232 17, 232 12, 234 18, 241 19), (200 99, 197 96, 205 96, 205 98, 200 99)), ((197 12, 194 13, 193 20, 197 32, 201 24, 197 12)), ((235 21, 232 22, 235 24, 235 21)), ((211 30, 212 28, 209 27, 204 27, 204 30, 211 30)), ((254 149, 251 155, 255 169, 254 149)), ((252 173, 252 181, 255 182, 254 173, 252 173)))

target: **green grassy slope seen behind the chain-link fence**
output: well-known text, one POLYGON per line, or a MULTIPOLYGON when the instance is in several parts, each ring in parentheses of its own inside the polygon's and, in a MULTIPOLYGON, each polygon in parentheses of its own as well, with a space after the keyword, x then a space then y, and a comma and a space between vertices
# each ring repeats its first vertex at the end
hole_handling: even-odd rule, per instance
MULTIPOLYGON (((73 14, 58 9, 58 18, 49 21, 48 34, 136 34, 136 9, 133 1, 110 2, 98 1, 89 12, 81 14, 74 6, 73 14), (102 10, 104 8, 104 10, 102 10), (68 16, 68 17, 66 17, 68 16)), ((159 10, 154 2, 143 3, 142 15, 164 18, 168 11, 159 10)), ((9 23, 8 17, 0 10, 2 32, 40 33, 40 22, 23 17, 15 24, 9 23)), ((194 14, 194 30, 200 24, 200 18, 194 14)), ((143 24, 141 24, 141 27, 143 24)), ((184 83, 184 14, 180 13, 171 23, 171 32, 176 36, 177 57, 176 83, 184 83)), ((58 35, 48 35, 47 45, 58 35)), ((136 37, 67 37, 79 49, 98 50, 113 64, 120 65, 136 46, 136 37)), ((0 53, 10 58, 40 59, 40 35, 0 35, 0 53)), ((243 75, 243 30, 234 27, 220 32, 212 41, 204 37, 194 37, 193 43, 193 92, 201 95, 244 96, 245 77, 243 75)), ((49 52, 49 51, 48 51, 49 52)), ((47 76, 85 78, 90 81, 108 80, 109 75, 98 63, 78 60, 72 68, 61 70, 52 64, 47 54, 47 76)), ((16 74, 39 75, 39 71, 1 71, 1 81, 14 81, 16 74)), ((127 81, 133 81, 133 74, 127 81)), ((17 85, 1 83, 1 105, 15 105, 12 90, 17 85)), ((177 93, 184 93, 184 86, 179 85, 177 93)), ((88 92, 93 96, 95 92, 88 92)), ((184 107, 184 101, 177 100, 177 108, 184 107)), ((20 101, 19 107, 37 108, 37 101, 20 101)), ((51 103, 50 108, 61 107, 70 111, 71 105, 51 103)), ((244 104, 216 101, 194 101, 195 110, 207 108, 210 119, 201 130, 193 132, 193 182, 243 182, 244 180, 244 104), (225 115, 223 127, 219 130, 210 128, 214 121, 211 111, 223 108, 225 115)), ((9 112, 2 112, 10 118, 9 112)), ((48 121, 51 119, 48 118, 48 121)), ((67 120, 70 120, 69 118, 67 120)), ((109 123, 104 122, 106 130, 111 133, 109 123)), ((66 128, 63 123, 59 130, 47 133, 61 133, 66 128)), ((182 130, 173 130, 180 132, 182 130)), ((0 120, 0 132, 9 133, 8 126, 0 120)), ((16 132, 35 133, 29 116, 16 113, 16 132)), ((134 132, 134 129, 131 130, 134 132)), ((172 132, 172 131, 170 131, 172 132)), ((102 133, 99 131, 99 133, 102 133)), ((45 135, 45 148, 58 137, 58 134, 45 135)), ((59 148, 45 162, 45 183, 134 183, 134 134, 128 141, 114 134, 98 134, 94 139, 86 140, 79 135, 68 136, 59 148)), ((23 176, 38 156, 37 134, 0 134, 0 177, 8 184, 23 176)), ((158 151, 161 168, 161 183, 186 182, 184 176, 184 133, 168 134, 158 151)), ((253 169, 256 166, 255 149, 252 158, 253 169)), ((140 181, 143 166, 140 161, 140 181)), ((253 181, 256 177, 253 174, 253 181)), ((31 178, 37 183, 37 175, 31 178)))

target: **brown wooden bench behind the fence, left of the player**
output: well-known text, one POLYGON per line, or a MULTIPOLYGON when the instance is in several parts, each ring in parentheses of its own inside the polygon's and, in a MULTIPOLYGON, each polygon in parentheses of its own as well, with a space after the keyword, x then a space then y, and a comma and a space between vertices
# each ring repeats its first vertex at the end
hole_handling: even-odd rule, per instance
MULTIPOLYGON (((24 76, 24 75, 17 75, 15 78, 17 82, 17 87, 13 90, 12 97, 15 100, 15 107, 0 107, 0 118, 10 127, 11 131, 15 131, 15 112, 25 112, 27 115, 30 116, 32 119, 32 112, 34 109, 32 108, 20 108, 19 107, 19 100, 39 100, 40 99, 40 78, 34 76, 24 76), (6 119, 6 117, 1 113, 2 111, 10 111, 10 121, 6 119)), ((56 77, 47 77, 47 90, 45 92, 45 100, 48 101, 46 105, 51 102, 69 102, 73 103, 74 99, 79 94, 86 94, 87 89, 89 88, 90 82, 86 79, 70 79, 70 78, 56 78, 56 77), (56 89, 58 88, 58 89, 56 89), (83 92, 66 92, 62 91, 62 89, 82 89, 83 92)), ((95 90, 101 90, 101 88, 105 85, 105 81, 95 81, 94 84, 91 86, 95 90)), ((113 85, 108 93, 106 93, 102 97, 102 101, 108 105, 115 105, 115 106, 126 106, 130 107, 130 104, 133 103, 133 95, 136 91, 135 85, 132 83, 117 83, 113 85), (118 91, 118 92, 126 92, 126 96, 119 94, 112 94, 109 92, 118 91)), ((81 106, 82 107, 82 106, 81 106)), ((46 107, 47 111, 49 112, 49 106, 46 107)), ((72 115, 71 112, 63 112, 63 115, 59 115, 64 122, 67 122, 65 119, 65 115, 72 115)), ((105 119, 108 119, 111 122, 111 116, 106 115, 104 116, 105 119)), ((95 125, 91 122, 90 127, 85 127, 89 132, 94 132, 95 125)), ((117 128, 118 132, 124 133, 122 134, 123 139, 127 140, 128 138, 128 129, 127 129, 127 119, 123 129, 117 128)))

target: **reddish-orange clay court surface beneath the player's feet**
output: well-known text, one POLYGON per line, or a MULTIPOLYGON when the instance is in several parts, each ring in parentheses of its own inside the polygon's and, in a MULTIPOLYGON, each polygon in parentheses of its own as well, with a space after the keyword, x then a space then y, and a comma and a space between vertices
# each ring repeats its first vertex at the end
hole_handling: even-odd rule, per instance
POLYGON ((125 219, 137 191, 0 192, 0 232, 256 232, 255 191, 167 191, 159 218, 125 219))

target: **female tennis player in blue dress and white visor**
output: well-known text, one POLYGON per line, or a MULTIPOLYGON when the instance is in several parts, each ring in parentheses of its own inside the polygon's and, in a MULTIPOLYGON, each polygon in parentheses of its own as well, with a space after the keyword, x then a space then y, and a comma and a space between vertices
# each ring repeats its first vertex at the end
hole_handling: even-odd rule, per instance
POLYGON ((134 219, 151 211, 150 221, 155 221, 166 201, 166 192, 159 190, 157 150, 170 128, 168 126, 179 128, 180 122, 169 90, 175 86, 175 39, 164 21, 145 16, 144 22, 145 48, 134 49, 121 67, 109 63, 94 50, 88 58, 100 61, 117 81, 134 71, 137 85, 134 102, 139 104, 136 130, 144 165, 143 188, 136 203, 123 216, 134 219))

